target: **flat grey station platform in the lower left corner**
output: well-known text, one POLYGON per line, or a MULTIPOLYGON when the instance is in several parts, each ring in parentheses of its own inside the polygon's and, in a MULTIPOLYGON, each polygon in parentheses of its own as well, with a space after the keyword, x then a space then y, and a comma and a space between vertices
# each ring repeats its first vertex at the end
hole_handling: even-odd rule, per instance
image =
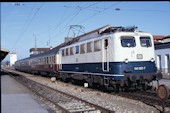
POLYGON ((30 91, 9 75, 1 75, 1 113, 48 113, 30 91))

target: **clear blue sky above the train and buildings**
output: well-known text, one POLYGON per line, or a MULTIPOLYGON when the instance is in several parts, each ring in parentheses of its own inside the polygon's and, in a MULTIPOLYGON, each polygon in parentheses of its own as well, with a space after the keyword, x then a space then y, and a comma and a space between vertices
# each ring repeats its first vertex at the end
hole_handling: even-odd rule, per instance
POLYGON ((19 60, 29 57, 29 50, 35 45, 56 47, 67 36, 105 25, 135 25, 139 31, 167 36, 169 19, 169 1, 1 2, 1 48, 17 53, 19 60), (70 25, 80 27, 73 30, 70 25))

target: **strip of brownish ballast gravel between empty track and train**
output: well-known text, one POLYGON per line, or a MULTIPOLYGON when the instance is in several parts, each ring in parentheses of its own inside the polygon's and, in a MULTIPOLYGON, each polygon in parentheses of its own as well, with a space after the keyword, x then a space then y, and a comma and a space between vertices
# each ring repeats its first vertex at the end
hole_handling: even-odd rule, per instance
POLYGON ((123 98, 108 93, 93 91, 88 88, 63 83, 60 81, 51 82, 49 78, 28 77, 36 82, 50 86, 62 92, 69 93, 88 102, 108 108, 115 113, 160 113, 156 108, 146 105, 140 101, 123 98))

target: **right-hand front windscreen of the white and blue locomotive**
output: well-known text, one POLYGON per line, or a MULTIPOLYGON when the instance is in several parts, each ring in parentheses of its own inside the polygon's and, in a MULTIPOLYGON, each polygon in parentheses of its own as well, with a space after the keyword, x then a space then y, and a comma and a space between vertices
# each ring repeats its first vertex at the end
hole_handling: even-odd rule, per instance
POLYGON ((151 39, 150 37, 140 37, 140 44, 142 47, 151 47, 151 39))

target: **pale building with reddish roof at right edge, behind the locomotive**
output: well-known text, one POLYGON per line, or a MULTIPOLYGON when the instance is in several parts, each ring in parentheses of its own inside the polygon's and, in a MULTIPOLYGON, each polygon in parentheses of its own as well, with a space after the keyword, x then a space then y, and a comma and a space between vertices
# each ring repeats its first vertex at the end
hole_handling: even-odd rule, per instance
POLYGON ((170 78, 170 35, 157 39, 155 43, 155 62, 164 78, 170 78))

